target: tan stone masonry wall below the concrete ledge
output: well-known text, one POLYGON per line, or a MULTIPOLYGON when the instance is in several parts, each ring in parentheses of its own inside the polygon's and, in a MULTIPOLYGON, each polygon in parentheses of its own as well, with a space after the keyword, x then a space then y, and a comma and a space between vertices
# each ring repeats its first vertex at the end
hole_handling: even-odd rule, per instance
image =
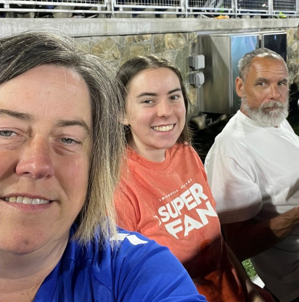
MULTIPOLYGON (((290 82, 299 88, 299 28, 276 28, 287 32, 287 56, 290 82)), ((157 54, 180 67, 188 82, 190 72, 188 56, 199 54, 197 33, 159 33, 122 36, 96 36, 77 38, 91 53, 101 56, 117 69, 128 59, 147 54, 157 54)), ((207 63, 206 63, 207 64, 207 63)), ((204 70, 203 70, 204 72, 204 70)), ((186 84, 189 97, 189 118, 199 115, 198 88, 186 84)))

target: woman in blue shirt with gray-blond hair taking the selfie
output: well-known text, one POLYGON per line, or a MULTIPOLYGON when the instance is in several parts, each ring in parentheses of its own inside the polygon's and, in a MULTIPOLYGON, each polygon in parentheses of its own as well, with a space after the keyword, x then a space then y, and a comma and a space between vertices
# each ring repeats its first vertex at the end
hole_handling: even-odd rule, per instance
POLYGON ((2 302, 206 301, 167 248, 116 228, 110 68, 72 38, 0 39, 2 302))

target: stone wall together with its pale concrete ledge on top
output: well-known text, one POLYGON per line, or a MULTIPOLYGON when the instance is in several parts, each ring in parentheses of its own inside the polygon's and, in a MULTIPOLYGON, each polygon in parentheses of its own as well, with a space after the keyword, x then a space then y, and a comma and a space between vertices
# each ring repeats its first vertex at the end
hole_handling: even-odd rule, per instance
MULTIPOLYGON (((57 29, 73 35, 84 47, 103 56, 118 68, 136 55, 154 53, 177 64, 188 79, 187 58, 200 54, 197 37, 207 33, 230 33, 259 30, 285 30, 290 82, 299 88, 299 18, 285 19, 0 19, 1 36, 22 30, 57 29)), ((208 62, 205 63, 206 65, 208 62)), ((203 70, 204 71, 204 70, 203 70)), ((198 88, 187 84, 189 116, 199 114, 198 88)))

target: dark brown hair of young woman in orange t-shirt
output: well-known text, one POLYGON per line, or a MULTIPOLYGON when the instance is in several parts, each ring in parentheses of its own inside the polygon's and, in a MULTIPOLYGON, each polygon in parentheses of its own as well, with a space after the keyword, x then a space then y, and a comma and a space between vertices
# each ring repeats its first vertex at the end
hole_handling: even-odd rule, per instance
MULTIPOLYGON (((184 84, 182 72, 180 69, 172 64, 167 59, 164 59, 163 57, 156 56, 156 55, 148 55, 148 56, 136 56, 132 59, 129 59, 126 63, 124 63, 117 73, 117 78, 119 80, 119 89, 122 94, 122 107, 126 107, 126 96, 128 94, 127 89, 129 87, 129 84, 131 80, 142 70, 144 69, 156 69, 156 68, 169 68, 171 69, 179 78, 180 80, 180 86, 182 89, 182 95, 184 98, 184 104, 186 108, 186 122, 183 128, 182 133, 180 134, 180 137, 178 138, 178 143, 190 143, 191 142, 191 135, 188 127, 187 122, 187 111, 188 111, 188 98, 187 98, 187 92, 186 92, 186 86, 184 84)), ((129 126, 124 126, 124 132, 126 137, 126 143, 129 143, 129 141, 132 138, 131 128, 129 126)))

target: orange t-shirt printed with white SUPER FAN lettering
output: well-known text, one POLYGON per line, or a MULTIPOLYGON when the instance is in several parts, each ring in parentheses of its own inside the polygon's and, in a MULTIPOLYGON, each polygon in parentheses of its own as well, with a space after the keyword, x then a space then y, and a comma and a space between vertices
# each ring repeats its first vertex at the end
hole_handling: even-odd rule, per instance
POLYGON ((115 195, 119 226, 167 246, 208 301, 245 301, 195 150, 176 144, 151 162, 128 147, 127 158, 115 195))

